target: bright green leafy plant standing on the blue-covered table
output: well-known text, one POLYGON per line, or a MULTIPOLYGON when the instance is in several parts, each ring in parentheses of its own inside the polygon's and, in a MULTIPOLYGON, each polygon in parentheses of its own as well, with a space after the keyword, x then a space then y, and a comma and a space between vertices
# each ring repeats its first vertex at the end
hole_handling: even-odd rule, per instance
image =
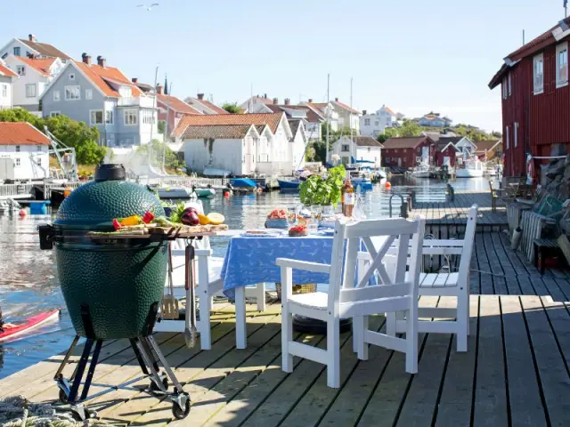
POLYGON ((304 205, 338 205, 346 176, 344 165, 330 168, 326 176, 311 175, 299 186, 299 197, 304 205))

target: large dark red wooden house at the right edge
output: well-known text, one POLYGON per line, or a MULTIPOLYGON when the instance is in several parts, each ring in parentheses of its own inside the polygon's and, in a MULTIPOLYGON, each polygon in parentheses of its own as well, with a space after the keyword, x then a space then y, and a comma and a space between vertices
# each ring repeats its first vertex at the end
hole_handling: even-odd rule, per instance
POLYGON ((528 152, 548 157, 570 149, 569 40, 567 18, 510 53, 489 83, 501 85, 506 175, 526 173, 528 152))

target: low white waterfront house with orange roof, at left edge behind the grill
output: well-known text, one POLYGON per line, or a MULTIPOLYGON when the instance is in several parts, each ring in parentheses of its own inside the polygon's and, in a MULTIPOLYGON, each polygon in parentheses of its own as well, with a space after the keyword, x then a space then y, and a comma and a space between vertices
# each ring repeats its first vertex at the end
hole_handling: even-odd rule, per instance
POLYGON ((50 175, 50 141, 34 126, 0 122, 0 180, 43 180, 50 175))

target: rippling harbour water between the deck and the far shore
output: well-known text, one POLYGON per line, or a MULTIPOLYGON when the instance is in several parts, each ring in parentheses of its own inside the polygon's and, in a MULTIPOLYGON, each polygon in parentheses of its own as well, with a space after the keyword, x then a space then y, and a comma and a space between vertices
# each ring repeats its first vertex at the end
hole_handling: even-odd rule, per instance
MULTIPOLYGON (((486 178, 451 182, 456 192, 488 190, 486 178)), ((394 177, 392 188, 377 184, 361 194, 367 217, 387 217, 393 194, 414 191, 417 202, 443 202, 446 183, 428 179, 394 177)), ((394 197, 393 215, 399 214, 399 197, 394 197)), ((259 193, 230 198, 204 199, 204 210, 224 214, 230 229, 258 229, 273 209, 299 204, 298 193, 259 193)), ((73 340, 65 302, 58 285, 53 251, 39 249, 37 225, 51 221, 50 216, 13 215, 0 217, 0 307, 4 320, 18 322, 38 312, 61 308, 61 320, 37 329, 18 342, 0 344, 0 378, 12 375, 54 354, 67 350, 73 340)), ((216 256, 224 256, 227 238, 212 238, 216 256)), ((54 372, 56 367, 54 366, 54 372)))

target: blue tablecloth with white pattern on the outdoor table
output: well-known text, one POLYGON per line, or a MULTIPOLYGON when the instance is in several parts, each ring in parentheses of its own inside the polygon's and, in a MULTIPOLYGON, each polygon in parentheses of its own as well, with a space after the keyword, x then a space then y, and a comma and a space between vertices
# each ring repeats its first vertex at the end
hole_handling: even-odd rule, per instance
MULTIPOLYGON (((228 244, 222 268, 224 294, 233 299, 236 287, 281 282, 281 269, 275 263, 277 258, 330 264, 331 254, 332 237, 329 236, 234 236, 228 244)), ((293 283, 329 283, 329 275, 293 270, 293 283)))

